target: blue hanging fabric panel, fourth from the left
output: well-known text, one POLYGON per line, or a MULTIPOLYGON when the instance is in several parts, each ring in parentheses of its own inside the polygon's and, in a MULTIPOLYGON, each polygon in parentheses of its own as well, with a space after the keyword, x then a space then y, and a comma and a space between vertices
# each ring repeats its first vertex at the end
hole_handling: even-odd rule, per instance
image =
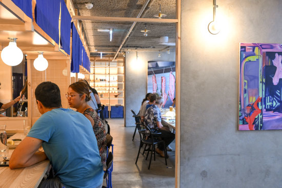
POLYGON ((73 24, 71 23, 72 29, 72 54, 71 54, 71 72, 78 73, 79 72, 79 37, 77 30, 73 24), (78 37, 78 38, 77 38, 78 37))

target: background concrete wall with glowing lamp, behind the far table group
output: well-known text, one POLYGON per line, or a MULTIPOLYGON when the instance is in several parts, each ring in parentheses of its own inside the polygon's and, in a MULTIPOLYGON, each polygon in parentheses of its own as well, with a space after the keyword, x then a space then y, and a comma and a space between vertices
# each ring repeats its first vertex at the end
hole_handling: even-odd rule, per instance
POLYGON ((147 94, 147 75, 148 61, 175 61, 175 51, 170 49, 170 54, 166 51, 160 52, 161 57, 157 57, 158 52, 138 52, 138 61, 136 61, 136 52, 126 54, 125 63, 125 126, 135 127, 135 120, 132 117, 131 109, 137 114, 141 102, 147 94))

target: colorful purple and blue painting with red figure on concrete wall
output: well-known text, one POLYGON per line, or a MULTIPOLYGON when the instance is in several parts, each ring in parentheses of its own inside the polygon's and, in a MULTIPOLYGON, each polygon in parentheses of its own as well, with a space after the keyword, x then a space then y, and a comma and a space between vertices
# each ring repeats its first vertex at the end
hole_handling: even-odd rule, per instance
POLYGON ((239 130, 282 129, 282 45, 240 43, 239 130))

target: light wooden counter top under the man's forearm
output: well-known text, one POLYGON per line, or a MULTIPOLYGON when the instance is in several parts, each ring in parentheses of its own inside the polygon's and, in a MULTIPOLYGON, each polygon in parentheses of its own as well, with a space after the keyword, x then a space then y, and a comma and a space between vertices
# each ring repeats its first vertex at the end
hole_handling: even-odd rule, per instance
MULTIPOLYGON (((16 133, 11 139, 24 139, 23 133, 16 133)), ((9 157, 14 149, 9 150, 9 157)), ((50 166, 49 160, 38 162, 32 166, 11 170, 7 167, 0 167, 0 187, 16 188, 16 187, 37 187, 43 179, 45 173, 50 166)))

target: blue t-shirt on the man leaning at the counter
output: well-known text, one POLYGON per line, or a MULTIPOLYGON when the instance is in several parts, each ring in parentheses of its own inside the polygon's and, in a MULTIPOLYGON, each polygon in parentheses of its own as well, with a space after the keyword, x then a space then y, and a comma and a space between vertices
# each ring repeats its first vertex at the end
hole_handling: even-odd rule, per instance
POLYGON ((68 188, 96 187, 103 183, 96 136, 83 114, 53 109, 34 123, 27 136, 43 140, 46 156, 68 188))

